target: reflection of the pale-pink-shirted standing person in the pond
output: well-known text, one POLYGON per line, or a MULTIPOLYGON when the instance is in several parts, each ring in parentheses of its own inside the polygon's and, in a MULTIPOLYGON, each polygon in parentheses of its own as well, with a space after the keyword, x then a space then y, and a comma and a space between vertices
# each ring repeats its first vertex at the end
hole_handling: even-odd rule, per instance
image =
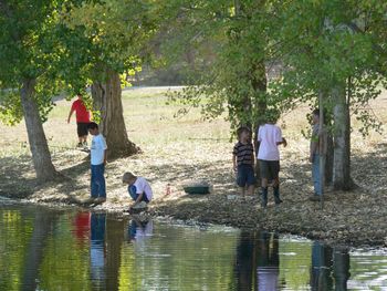
POLYGON ((278 235, 261 232, 257 257, 258 290, 279 290, 280 254, 278 235))

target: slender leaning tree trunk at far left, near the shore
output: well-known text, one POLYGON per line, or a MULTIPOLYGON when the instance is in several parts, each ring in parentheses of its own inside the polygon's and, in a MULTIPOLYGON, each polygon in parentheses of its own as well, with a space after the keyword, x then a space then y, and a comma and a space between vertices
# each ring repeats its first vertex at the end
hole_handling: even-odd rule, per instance
POLYGON ((24 80, 20 91, 20 98, 36 178, 45 181, 57 177, 57 172, 51 162, 51 154, 43 131, 43 124, 33 97, 34 86, 35 80, 24 80))

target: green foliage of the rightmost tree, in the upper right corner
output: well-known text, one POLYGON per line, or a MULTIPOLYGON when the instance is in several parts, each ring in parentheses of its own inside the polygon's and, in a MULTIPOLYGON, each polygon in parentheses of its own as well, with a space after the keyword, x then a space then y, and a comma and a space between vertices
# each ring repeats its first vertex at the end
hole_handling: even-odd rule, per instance
POLYGON ((272 22, 273 41, 281 43, 281 77, 269 92, 287 108, 315 103, 324 92, 331 113, 332 90, 345 89, 352 113, 363 122, 362 134, 380 129, 368 102, 386 87, 386 4, 372 1, 278 1, 278 22, 272 22))

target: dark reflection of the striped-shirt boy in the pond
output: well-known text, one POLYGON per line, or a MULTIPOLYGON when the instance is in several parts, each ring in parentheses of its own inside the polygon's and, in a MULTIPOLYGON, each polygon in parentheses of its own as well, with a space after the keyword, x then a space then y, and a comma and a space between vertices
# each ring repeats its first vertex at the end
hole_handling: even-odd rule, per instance
POLYGON ((237 247, 237 290, 252 290, 254 273, 254 233, 242 231, 237 247))

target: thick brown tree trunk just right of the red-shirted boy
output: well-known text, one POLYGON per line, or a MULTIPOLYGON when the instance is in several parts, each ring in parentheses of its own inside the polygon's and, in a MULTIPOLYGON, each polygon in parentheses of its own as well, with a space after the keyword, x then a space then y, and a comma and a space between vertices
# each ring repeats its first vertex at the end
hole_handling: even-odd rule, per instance
POLYGON ((106 69, 104 82, 92 85, 93 106, 101 114, 100 131, 107 143, 107 157, 117 158, 137 154, 139 148, 127 137, 122 103, 119 74, 106 69))

